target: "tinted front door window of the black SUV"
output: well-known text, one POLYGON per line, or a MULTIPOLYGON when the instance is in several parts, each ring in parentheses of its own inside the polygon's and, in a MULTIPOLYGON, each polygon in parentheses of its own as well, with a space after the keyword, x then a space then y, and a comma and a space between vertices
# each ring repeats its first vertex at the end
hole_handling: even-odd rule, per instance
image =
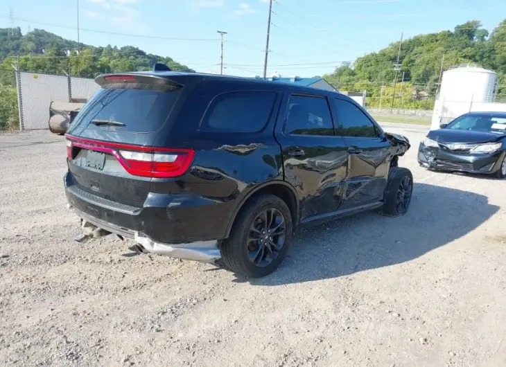
POLYGON ((346 100, 334 99, 338 114, 338 135, 360 138, 376 137, 376 128, 369 118, 356 105, 346 100))

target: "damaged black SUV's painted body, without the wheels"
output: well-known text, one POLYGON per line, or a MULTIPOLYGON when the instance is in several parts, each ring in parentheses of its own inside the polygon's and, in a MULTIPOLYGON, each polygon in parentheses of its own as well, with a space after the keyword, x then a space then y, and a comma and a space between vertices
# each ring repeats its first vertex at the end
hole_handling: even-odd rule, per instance
POLYGON ((383 132, 351 98, 336 92, 196 73, 121 75, 125 80, 110 83, 107 75, 98 77, 103 89, 70 126, 64 187, 83 218, 127 237, 141 233, 164 244, 223 240, 247 200, 274 187, 290 206, 295 227, 375 208, 383 203, 392 162, 410 147, 407 138, 383 132), (236 104, 245 102, 243 94, 258 97, 265 107, 236 116, 237 124, 252 116, 265 120, 253 131, 220 126, 209 115, 228 94, 237 97, 236 104), (285 131, 290 96, 326 101, 326 136, 285 131), (353 105, 376 135, 338 136, 333 99, 353 105), (92 123, 108 118, 121 124, 92 123), (89 157, 96 150, 104 154, 103 167, 89 157), (186 159, 188 168, 173 177, 139 176, 135 172, 155 170, 150 156, 169 165, 186 159))

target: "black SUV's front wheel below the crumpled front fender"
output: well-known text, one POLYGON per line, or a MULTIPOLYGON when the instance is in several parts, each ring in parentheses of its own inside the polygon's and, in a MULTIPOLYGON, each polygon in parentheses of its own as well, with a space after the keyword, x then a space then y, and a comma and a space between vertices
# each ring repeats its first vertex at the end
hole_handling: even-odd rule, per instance
POLYGON ((385 204, 383 204, 383 215, 387 217, 399 217, 407 213, 412 193, 413 175, 411 171, 403 167, 391 168, 388 174, 385 195, 383 196, 385 199, 385 204), (406 183, 408 184, 407 186, 406 183), (400 190, 403 191, 401 195, 401 199, 404 199, 403 203, 399 202, 400 190))

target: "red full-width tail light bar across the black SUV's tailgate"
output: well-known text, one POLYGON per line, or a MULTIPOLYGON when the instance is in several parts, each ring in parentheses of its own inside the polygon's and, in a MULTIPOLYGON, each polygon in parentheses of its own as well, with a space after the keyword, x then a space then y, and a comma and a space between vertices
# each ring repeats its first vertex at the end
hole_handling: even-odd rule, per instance
POLYGON ((112 154, 123 168, 135 176, 169 178, 179 177, 190 168, 195 156, 191 149, 170 149, 157 147, 140 147, 120 143, 108 143, 91 139, 67 136, 67 156, 71 158, 72 147, 95 150, 112 154))

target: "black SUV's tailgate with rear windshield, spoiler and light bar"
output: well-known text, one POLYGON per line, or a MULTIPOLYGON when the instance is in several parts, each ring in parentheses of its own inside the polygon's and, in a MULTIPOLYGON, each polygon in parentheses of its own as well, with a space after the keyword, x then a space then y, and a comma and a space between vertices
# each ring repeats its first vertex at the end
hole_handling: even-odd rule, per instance
POLYGON ((152 145, 183 86, 141 74, 110 75, 97 81, 102 88, 67 132, 67 186, 94 201, 141 207, 150 192, 150 180, 156 177, 152 168, 158 163, 153 159, 167 167, 176 161, 177 153, 156 152, 156 156, 152 145))

